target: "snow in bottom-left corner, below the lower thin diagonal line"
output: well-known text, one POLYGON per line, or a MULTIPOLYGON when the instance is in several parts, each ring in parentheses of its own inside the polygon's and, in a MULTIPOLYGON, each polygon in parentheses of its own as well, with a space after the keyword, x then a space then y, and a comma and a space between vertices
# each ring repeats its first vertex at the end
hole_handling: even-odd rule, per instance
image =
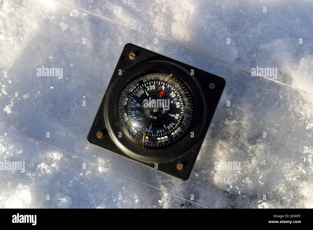
POLYGON ((1 171, 1 208, 201 208, 19 134, 13 127, 0 138, 1 161, 26 162, 24 173, 1 171))

